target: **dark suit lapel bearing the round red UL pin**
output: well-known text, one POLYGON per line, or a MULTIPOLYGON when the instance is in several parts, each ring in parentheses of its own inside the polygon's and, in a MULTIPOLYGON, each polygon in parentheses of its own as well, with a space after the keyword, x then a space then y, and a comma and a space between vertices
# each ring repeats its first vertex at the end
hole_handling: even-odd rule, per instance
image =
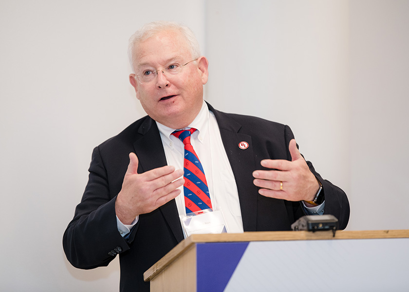
POLYGON ((257 194, 258 188, 253 184, 252 172, 256 169, 251 136, 240 133, 242 125, 231 119, 228 115, 214 110, 220 128, 223 146, 229 159, 236 180, 239 193, 240 208, 244 231, 255 231, 257 223, 257 194), (248 148, 241 149, 239 144, 247 142, 248 148))

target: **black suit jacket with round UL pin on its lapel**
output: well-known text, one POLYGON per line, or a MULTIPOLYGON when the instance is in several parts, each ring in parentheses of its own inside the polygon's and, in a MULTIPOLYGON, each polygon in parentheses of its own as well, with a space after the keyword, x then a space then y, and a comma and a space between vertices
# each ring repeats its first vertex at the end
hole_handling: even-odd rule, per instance
MULTIPOLYGON (((252 172, 261 169, 262 159, 291 160, 291 129, 256 117, 223 113, 210 105, 209 110, 217 119, 236 179, 244 231, 290 230, 291 224, 305 215, 300 202, 259 195, 252 172), (238 146, 242 141, 249 144, 245 150, 238 146)), ((158 128, 150 117, 136 121, 93 150, 89 181, 64 233, 63 246, 71 264, 81 269, 107 266, 119 254, 120 290, 149 291, 143 273, 184 237, 174 200, 140 215, 128 239, 119 234, 114 204, 130 152, 138 156, 138 173, 167 164, 158 128)), ((325 213, 334 215, 340 228, 345 228, 350 213, 345 193, 307 163, 323 185, 325 213)))

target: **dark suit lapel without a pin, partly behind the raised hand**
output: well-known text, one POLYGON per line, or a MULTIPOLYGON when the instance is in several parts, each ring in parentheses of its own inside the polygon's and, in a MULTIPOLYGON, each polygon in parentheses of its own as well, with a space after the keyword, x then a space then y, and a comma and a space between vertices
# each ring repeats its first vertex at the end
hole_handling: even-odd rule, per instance
MULTIPOLYGON (((146 121, 138 129, 138 133, 141 138, 133 143, 135 153, 139 159, 138 173, 167 165, 165 151, 156 123, 150 117, 147 117, 146 121)), ((178 242, 183 240, 183 231, 175 200, 167 202, 159 209, 176 240, 178 242)))

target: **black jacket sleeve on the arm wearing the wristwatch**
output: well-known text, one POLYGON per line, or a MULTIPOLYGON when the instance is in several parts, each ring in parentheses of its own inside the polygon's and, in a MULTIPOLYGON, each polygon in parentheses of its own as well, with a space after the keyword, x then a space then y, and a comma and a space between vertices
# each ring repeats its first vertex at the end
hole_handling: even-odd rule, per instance
MULTIPOLYGON (((288 160, 291 161, 290 150, 288 145, 290 140, 294 138, 293 132, 290 127, 285 126, 285 140, 287 145, 287 156, 288 160)), ((298 145, 297 145, 298 147, 298 145)), ((350 216, 350 205, 345 192, 332 184, 331 182, 324 180, 319 173, 316 172, 313 164, 307 161, 308 167, 311 172, 316 176, 319 182, 322 184, 325 196, 325 209, 324 214, 334 215, 338 219, 339 229, 345 229, 348 224, 350 216)))

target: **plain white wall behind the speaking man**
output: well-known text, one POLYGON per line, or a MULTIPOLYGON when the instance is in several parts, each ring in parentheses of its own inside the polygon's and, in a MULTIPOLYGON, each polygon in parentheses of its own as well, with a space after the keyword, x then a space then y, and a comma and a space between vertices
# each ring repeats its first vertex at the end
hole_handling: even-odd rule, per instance
POLYGON ((62 234, 94 146, 144 112, 127 41, 184 22, 216 108, 291 126, 351 202, 350 230, 409 229, 409 1, 0 0, 0 291, 117 291, 70 266, 62 234))

